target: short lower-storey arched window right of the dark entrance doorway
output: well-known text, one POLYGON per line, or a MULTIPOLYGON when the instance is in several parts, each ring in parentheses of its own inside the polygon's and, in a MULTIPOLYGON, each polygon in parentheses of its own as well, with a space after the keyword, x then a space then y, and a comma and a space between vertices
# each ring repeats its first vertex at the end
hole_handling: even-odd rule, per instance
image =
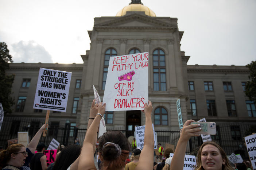
POLYGON ((167 110, 159 107, 154 112, 154 125, 168 125, 167 110))

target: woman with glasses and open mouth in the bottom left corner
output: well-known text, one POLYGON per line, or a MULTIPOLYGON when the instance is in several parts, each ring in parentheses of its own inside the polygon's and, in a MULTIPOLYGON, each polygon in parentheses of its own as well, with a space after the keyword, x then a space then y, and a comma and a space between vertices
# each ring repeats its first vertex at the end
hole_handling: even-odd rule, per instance
POLYGON ((0 169, 23 170, 22 166, 28 156, 26 147, 22 144, 13 144, 0 153, 0 169))

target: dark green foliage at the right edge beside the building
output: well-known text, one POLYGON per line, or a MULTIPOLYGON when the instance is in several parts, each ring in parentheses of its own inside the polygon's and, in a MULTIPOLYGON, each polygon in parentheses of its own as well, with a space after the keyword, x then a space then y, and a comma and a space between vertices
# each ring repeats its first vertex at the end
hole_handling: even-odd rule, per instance
POLYGON ((253 100, 256 103, 256 61, 252 61, 250 64, 247 64, 246 67, 250 70, 249 81, 245 85, 245 94, 249 97, 250 100, 253 100))

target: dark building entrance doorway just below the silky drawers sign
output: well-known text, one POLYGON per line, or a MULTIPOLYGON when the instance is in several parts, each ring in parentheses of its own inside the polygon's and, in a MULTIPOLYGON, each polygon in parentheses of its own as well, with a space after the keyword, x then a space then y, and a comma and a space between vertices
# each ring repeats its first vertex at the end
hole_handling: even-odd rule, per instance
POLYGON ((134 136, 135 126, 141 125, 141 111, 128 110, 126 112, 126 137, 134 136))

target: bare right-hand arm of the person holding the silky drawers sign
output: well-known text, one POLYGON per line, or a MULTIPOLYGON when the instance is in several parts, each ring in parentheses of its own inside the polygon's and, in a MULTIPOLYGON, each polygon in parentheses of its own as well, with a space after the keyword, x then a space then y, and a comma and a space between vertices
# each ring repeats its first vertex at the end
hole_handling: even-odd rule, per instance
POLYGON ((135 170, 149 170, 153 168, 154 161, 154 134, 151 121, 152 112, 151 101, 145 103, 144 113, 146 117, 146 127, 144 135, 144 147, 140 153, 138 165, 135 170))

